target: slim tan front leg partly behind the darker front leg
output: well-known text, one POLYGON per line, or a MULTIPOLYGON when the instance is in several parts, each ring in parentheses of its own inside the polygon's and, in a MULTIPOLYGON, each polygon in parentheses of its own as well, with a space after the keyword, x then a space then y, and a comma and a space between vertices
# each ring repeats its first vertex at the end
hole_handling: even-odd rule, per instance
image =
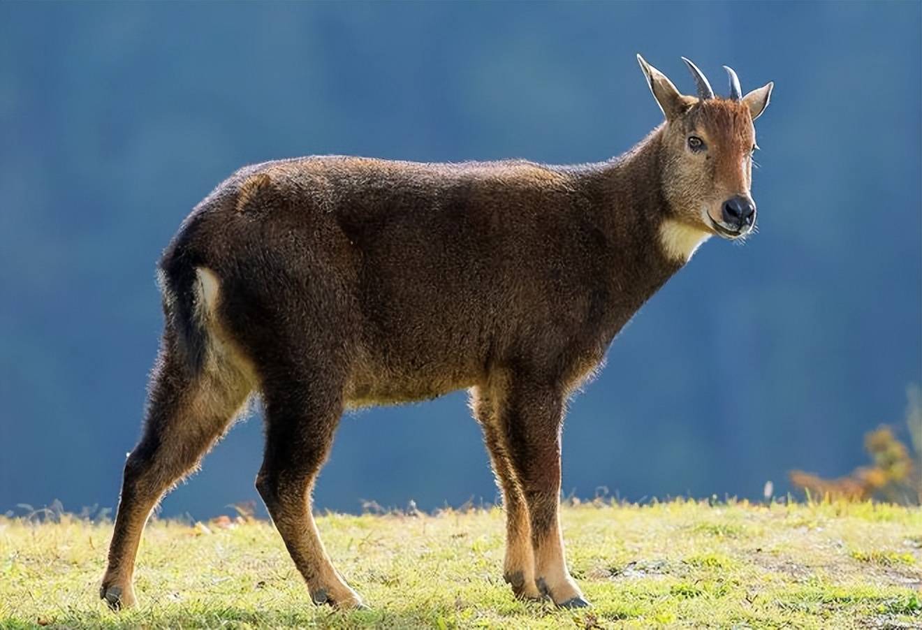
POLYGON ((483 427, 483 440, 490 452, 493 474, 502 492, 502 506, 506 512, 506 553, 502 577, 513 588, 515 597, 539 600, 541 594, 535 583, 535 556, 531 547, 528 508, 515 478, 508 438, 496 410, 497 403, 489 387, 475 387, 471 392, 471 408, 483 427))

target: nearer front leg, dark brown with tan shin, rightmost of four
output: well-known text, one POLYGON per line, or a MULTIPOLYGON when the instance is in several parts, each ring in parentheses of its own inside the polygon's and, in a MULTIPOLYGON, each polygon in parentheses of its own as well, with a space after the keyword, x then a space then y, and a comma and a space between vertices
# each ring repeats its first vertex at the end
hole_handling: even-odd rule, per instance
POLYGON ((538 589, 555 604, 588 602, 567 570, 558 509, 561 496, 563 397, 557 386, 514 379, 502 406, 509 459, 525 497, 538 589))

